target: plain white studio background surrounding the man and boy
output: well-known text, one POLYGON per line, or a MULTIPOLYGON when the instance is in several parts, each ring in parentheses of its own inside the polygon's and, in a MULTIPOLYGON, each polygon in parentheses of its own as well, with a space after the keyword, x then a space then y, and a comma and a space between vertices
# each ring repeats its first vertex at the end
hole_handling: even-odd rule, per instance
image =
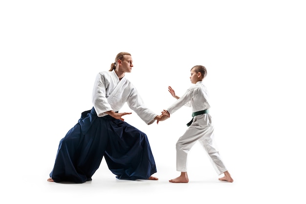
POLYGON ((2 0, 1 199, 305 203, 305 9, 302 0, 2 0), (182 95, 190 68, 207 68, 233 183, 218 181, 197 144, 190 182, 168 182, 179 174, 175 142, 191 119, 187 107, 158 125, 124 117, 149 137, 159 181, 118 181, 104 159, 91 182, 46 181, 60 139, 92 107, 96 74, 121 51, 134 61, 126 77, 156 113, 175 101, 168 86, 182 95))

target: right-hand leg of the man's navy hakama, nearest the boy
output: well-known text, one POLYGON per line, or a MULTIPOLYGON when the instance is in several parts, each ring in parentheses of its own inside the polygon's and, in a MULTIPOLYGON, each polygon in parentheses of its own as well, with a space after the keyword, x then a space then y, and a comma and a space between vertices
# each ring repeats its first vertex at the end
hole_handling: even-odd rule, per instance
POLYGON ((112 125, 105 159, 118 179, 148 179, 156 166, 146 134, 123 121, 112 125))

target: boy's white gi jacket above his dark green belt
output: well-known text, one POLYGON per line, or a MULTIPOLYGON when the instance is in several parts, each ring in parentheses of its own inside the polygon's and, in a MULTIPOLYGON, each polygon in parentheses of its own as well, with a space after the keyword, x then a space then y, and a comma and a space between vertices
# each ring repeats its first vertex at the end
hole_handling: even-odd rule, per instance
POLYGON ((191 107, 192 112, 203 111, 210 108, 208 103, 208 91, 202 81, 198 81, 194 86, 191 86, 182 97, 177 99, 167 111, 172 114, 175 113, 182 106, 191 107))

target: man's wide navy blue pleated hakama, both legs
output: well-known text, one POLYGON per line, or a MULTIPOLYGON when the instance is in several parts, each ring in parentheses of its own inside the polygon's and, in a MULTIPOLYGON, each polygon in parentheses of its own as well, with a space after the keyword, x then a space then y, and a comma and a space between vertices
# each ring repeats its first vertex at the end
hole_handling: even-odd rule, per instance
POLYGON ((117 179, 143 180, 157 172, 145 133, 109 115, 98 117, 92 108, 61 139, 50 178, 91 181, 103 156, 117 179))

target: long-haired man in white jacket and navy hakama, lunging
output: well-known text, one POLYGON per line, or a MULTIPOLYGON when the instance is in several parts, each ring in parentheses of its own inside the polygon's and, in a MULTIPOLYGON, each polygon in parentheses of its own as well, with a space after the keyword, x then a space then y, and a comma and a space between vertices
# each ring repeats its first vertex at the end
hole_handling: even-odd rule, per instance
POLYGON ((124 121, 131 113, 118 113, 125 103, 148 125, 163 121, 148 109, 136 88, 126 79, 132 70, 131 54, 120 52, 109 71, 98 73, 92 92, 93 108, 83 112, 78 123, 60 141, 55 164, 47 181, 91 181, 105 157, 117 179, 158 180, 148 137, 124 121))

